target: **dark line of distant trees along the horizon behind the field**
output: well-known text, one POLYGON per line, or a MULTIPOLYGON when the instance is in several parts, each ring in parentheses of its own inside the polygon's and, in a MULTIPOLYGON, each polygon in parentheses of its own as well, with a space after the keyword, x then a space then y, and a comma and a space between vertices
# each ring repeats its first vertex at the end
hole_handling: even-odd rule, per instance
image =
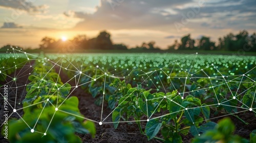
MULTIPOLYGON (((130 47, 129 50, 158 50, 155 41, 142 42, 141 45, 130 47)), ((6 49, 7 46, 2 47, 6 49)), ((86 35, 77 35, 72 40, 62 41, 55 40, 50 37, 44 37, 39 45, 40 50, 75 52, 77 50, 128 50, 125 44, 114 44, 111 40, 111 34, 102 31, 95 38, 88 38, 86 35)), ((245 30, 238 34, 229 33, 228 35, 219 38, 218 42, 211 41, 210 37, 202 36, 200 39, 193 39, 190 34, 181 37, 180 41, 175 40, 172 45, 169 45, 167 51, 180 50, 203 50, 203 51, 243 51, 256 52, 256 34, 249 33, 245 30)))

